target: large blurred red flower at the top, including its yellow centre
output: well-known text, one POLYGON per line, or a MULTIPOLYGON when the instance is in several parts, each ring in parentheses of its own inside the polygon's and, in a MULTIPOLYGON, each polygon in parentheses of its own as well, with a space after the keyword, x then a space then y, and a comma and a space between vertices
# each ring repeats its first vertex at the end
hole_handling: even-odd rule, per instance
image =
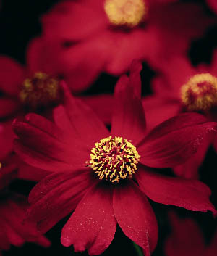
POLYGON ((31 48, 33 63, 61 73, 73 91, 84 90, 102 72, 121 75, 133 59, 158 66, 159 58, 185 52, 213 22, 196 4, 168 2, 61 1, 42 18, 43 36, 31 48))

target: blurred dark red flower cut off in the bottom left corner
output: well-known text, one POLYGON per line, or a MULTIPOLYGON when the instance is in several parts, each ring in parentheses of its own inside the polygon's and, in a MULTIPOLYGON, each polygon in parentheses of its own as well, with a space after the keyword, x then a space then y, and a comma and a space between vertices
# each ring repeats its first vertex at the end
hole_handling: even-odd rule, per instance
POLYGON ((8 250, 10 244, 17 247, 25 242, 34 242, 43 247, 50 245, 50 241, 37 231, 35 223, 25 220, 29 206, 27 199, 6 190, 16 176, 16 165, 10 164, 0 170, 0 255, 1 250, 8 250))

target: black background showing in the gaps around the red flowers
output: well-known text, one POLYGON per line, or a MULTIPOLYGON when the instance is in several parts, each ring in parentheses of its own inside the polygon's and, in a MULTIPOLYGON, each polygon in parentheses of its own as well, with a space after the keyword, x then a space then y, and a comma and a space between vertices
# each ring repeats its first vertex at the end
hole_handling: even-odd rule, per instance
MULTIPOLYGON (((25 49, 31 38, 41 33, 40 15, 47 12, 57 0, 3 0, 1 2, 0 11, 0 54, 5 54, 9 57, 17 59, 18 62, 25 64, 25 49)), ((206 12, 213 15, 212 12, 206 7, 205 1, 197 1, 198 4, 203 4, 206 12)), ((199 62, 210 62, 212 51, 217 46, 217 27, 209 28, 203 38, 197 38, 192 41, 189 49, 189 57, 193 65, 199 62)), ((151 70, 148 65, 143 64, 142 70, 142 83, 145 83, 145 91, 142 90, 143 95, 151 94, 150 84, 151 78, 156 75, 154 70, 151 70), (145 82, 144 82, 145 80, 145 82)), ((112 93, 117 78, 110 75, 103 74, 94 83, 94 85, 85 92, 85 94, 100 94, 103 92, 112 93), (101 84, 103 83, 103 86, 101 84)), ((171 170, 163 170, 169 175, 171 170)), ((217 163, 216 154, 210 148, 208 156, 200 168, 201 179, 208 184, 213 191, 211 197, 215 206, 217 206, 217 163)), ((11 185, 13 191, 27 195, 30 189, 35 185, 33 182, 27 181, 14 181, 11 185)), ((216 229, 217 222, 213 220, 210 213, 190 212, 178 207, 166 207, 164 205, 155 204, 151 202, 156 212, 159 225, 159 241, 154 256, 163 255, 162 244, 166 235, 169 234, 169 224, 166 218, 168 210, 176 210, 179 215, 183 217, 191 216, 195 218, 199 225, 203 228, 206 241, 210 241, 213 231, 216 229)), ((67 217, 69 218, 69 216, 67 217)), ((58 223, 51 231, 46 234, 52 241, 52 246, 44 249, 35 244, 25 244, 21 248, 12 247, 8 252, 3 252, 7 256, 25 256, 25 255, 81 255, 73 252, 73 247, 63 247, 60 243, 61 228, 66 223, 67 218, 58 223)), ((117 228, 116 236, 111 246, 108 247, 103 255, 136 255, 135 247, 132 241, 127 239, 120 228, 117 228)), ((83 253, 82 255, 87 255, 83 253)))

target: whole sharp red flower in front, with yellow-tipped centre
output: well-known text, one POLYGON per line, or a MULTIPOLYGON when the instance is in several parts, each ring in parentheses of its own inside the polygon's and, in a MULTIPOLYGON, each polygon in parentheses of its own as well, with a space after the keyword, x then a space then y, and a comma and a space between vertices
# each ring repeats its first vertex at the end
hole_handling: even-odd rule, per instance
MULTIPOLYGON (((140 68, 135 68, 137 75, 140 68)), ((120 78, 111 133, 67 87, 65 107, 54 110, 55 123, 35 114, 27 115, 25 122, 14 121, 17 154, 28 164, 53 172, 30 192, 30 219, 46 232, 75 210, 62 230, 61 243, 74 244, 76 252, 101 254, 118 223, 150 255, 158 227, 146 196, 166 205, 215 212, 205 184, 166 177, 148 166, 167 168, 184 162, 208 133, 216 132, 216 123, 187 113, 145 135, 139 91, 140 83, 133 88, 127 75, 120 78)))

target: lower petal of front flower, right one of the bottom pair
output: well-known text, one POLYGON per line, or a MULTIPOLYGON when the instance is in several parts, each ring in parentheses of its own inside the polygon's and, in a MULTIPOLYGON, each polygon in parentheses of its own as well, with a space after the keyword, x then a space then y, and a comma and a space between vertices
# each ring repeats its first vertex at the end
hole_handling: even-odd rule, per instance
POLYGON ((124 234, 149 256, 158 241, 158 224, 147 197, 133 183, 116 186, 113 207, 124 234))

